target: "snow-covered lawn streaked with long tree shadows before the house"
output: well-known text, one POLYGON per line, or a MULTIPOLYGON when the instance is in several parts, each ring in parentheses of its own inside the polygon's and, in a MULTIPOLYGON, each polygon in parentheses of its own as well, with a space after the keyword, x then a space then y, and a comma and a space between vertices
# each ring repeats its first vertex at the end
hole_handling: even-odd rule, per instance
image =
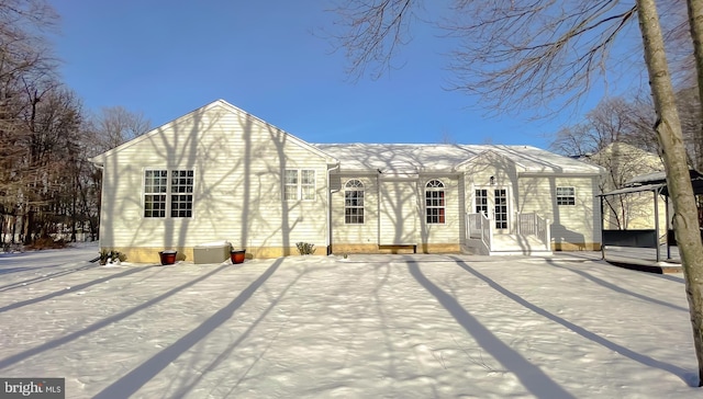
POLYGON ((680 274, 558 254, 0 254, 0 376, 65 377, 67 398, 703 396, 680 274))

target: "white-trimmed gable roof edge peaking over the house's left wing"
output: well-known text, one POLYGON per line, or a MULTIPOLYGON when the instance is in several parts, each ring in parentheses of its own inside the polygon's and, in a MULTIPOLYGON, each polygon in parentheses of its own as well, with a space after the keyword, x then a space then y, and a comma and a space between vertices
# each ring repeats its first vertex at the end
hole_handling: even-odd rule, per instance
POLYGON ((174 119, 171 122, 168 122, 168 123, 166 123, 166 124, 164 124, 164 125, 161 125, 159 127, 156 127, 156 128, 145 133, 142 136, 135 137, 134 139, 130 140, 130 141, 126 141, 126 142, 124 142, 124 144, 122 144, 122 145, 120 145, 120 146, 118 146, 118 147, 115 147, 115 148, 113 148, 111 150, 108 150, 108 151, 105 151, 103 153, 97 155, 97 156, 90 158, 89 161, 93 162, 93 163, 102 163, 102 161, 105 158, 114 155, 115 152, 121 151, 124 148, 129 148, 129 147, 134 146, 136 144, 140 144, 140 142, 142 142, 144 140, 148 140, 152 136, 160 135, 165 130, 168 130, 169 128, 171 128, 174 125, 177 125, 179 123, 183 123, 183 122, 186 122, 188 119, 191 119, 191 118, 196 117, 196 115, 198 115, 198 114, 202 114, 203 112, 210 111, 210 110, 215 109, 215 107, 223 107, 228 112, 232 112, 232 113, 235 113, 235 114, 245 115, 246 117, 252 118, 252 119, 260 123, 264 126, 268 126, 268 127, 270 127, 270 128, 272 128, 275 130, 281 132, 287 136, 287 138, 288 138, 288 140, 290 142, 293 142, 293 144, 295 144, 295 145, 298 145, 298 146, 300 146, 300 147, 313 152, 314 155, 326 159, 327 163, 338 163, 338 160, 336 158, 331 157, 330 155, 321 151, 316 147, 308 144, 306 141, 301 140, 300 138, 291 135, 290 133, 288 133, 288 132, 286 132, 286 130, 283 130, 281 128, 278 128, 278 127, 269 124, 268 122, 266 122, 264 119, 260 119, 260 118, 256 117, 255 115, 249 114, 248 112, 243 111, 242 109, 238 109, 238 107, 230 104, 228 102, 226 102, 224 100, 215 100, 215 101, 211 102, 210 104, 207 104, 207 105, 203 105, 203 106, 201 106, 201 107, 199 107, 197 110, 193 110, 193 111, 187 113, 183 116, 177 117, 176 119, 174 119))

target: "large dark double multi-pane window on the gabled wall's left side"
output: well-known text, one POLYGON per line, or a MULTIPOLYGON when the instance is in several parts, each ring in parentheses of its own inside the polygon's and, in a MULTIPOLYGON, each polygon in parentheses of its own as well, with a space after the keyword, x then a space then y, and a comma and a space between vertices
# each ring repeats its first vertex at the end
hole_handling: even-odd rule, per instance
POLYGON ((144 171, 144 217, 166 217, 167 213, 170 217, 193 216, 192 170, 144 171))

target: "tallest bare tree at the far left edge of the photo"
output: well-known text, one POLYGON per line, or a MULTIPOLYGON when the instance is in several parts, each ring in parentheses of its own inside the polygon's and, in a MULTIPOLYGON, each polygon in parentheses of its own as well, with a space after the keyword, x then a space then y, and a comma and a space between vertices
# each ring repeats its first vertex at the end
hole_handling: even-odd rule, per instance
POLYGON ((29 160, 30 147, 40 149, 31 139, 38 138, 32 117, 54 82, 56 65, 44 33, 57 21, 46 1, 0 0, 0 213, 2 239, 9 232, 11 242, 26 230, 26 204, 38 182, 29 160))

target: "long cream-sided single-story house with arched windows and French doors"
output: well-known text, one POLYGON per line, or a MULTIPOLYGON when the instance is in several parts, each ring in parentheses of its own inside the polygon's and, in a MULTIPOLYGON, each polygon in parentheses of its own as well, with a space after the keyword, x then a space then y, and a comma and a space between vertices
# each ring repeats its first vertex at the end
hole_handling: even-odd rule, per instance
POLYGON ((312 145, 219 100, 91 161, 100 247, 133 262, 225 240, 254 258, 601 242, 601 168, 527 146, 312 145))

